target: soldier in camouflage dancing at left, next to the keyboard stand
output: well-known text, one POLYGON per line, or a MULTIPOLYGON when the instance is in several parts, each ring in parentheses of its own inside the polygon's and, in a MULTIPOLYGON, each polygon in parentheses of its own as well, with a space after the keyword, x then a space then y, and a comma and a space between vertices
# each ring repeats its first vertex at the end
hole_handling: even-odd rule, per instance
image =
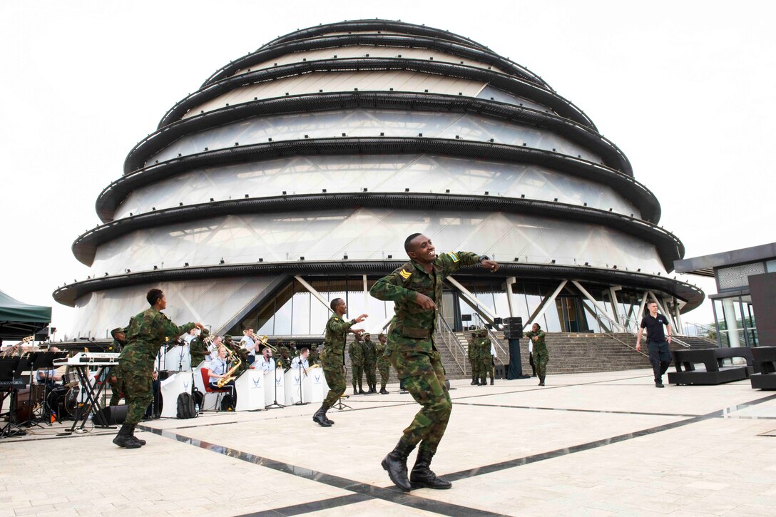
POLYGON ((151 308, 137 314, 126 328, 126 346, 119 356, 121 376, 124 380, 126 420, 121 426, 113 443, 126 449, 137 449, 145 444, 144 440, 134 437, 135 425, 143 418, 143 413, 154 399, 152 379, 154 359, 165 338, 175 338, 192 328, 204 330, 201 323, 187 323, 178 327, 161 311, 167 307, 165 293, 161 290, 148 291, 146 300, 151 308))

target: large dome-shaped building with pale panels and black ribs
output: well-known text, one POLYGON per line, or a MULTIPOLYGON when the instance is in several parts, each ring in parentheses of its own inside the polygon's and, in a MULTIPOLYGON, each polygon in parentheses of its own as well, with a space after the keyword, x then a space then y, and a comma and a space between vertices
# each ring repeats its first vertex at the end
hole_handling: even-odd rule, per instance
POLYGON ((404 238, 501 262, 445 286, 445 321, 521 316, 549 331, 632 327, 656 299, 703 300, 625 154, 532 71, 480 43, 388 20, 320 25, 230 61, 165 113, 96 203, 54 298, 106 337, 161 286, 175 321, 321 335, 328 300, 368 296, 404 238))

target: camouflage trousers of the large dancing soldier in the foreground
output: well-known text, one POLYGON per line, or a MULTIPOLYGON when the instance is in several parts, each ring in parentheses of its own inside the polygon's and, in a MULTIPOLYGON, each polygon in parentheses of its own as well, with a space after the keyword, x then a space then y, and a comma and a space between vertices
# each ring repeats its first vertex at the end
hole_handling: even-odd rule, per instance
POLYGON ((452 401, 445 387, 445 368, 439 352, 391 352, 390 363, 404 380, 404 389, 423 408, 404 429, 402 441, 419 450, 436 453, 450 420, 452 401))

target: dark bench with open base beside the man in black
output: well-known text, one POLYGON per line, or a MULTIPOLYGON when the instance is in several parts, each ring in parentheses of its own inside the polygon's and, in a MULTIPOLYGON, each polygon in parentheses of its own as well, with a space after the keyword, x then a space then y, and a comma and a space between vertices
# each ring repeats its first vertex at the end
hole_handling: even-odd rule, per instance
POLYGON ((748 347, 731 349, 674 350, 675 372, 668 373, 670 384, 722 384, 743 380, 753 373, 752 350, 748 347), (725 359, 740 357, 746 365, 724 366, 725 359), (703 363, 705 370, 696 370, 703 363))

